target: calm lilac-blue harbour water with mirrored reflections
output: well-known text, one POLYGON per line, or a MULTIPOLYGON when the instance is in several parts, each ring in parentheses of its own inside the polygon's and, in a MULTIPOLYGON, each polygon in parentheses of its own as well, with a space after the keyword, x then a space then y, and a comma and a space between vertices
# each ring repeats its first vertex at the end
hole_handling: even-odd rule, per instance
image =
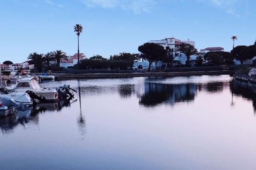
POLYGON ((1 118, 0 169, 256 169, 256 87, 231 80, 44 82, 80 92, 1 118))

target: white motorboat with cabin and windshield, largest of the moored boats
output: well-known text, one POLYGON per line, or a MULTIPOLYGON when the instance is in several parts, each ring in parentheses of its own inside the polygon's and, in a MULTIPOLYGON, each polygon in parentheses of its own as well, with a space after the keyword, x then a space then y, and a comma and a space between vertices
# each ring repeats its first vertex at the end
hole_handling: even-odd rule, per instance
POLYGON ((42 88, 36 81, 37 78, 30 77, 18 80, 13 90, 15 92, 33 91, 38 96, 45 98, 46 102, 58 101, 58 92, 56 89, 42 88))

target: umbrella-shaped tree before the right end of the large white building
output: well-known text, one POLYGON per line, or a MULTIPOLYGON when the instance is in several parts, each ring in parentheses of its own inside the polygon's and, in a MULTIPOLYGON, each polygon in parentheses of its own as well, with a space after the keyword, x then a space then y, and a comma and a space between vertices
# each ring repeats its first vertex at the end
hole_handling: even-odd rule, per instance
POLYGON ((186 66, 189 66, 190 56, 198 54, 197 49, 193 45, 190 45, 187 43, 181 43, 181 44, 177 45, 176 51, 186 55, 186 57, 187 57, 186 66))

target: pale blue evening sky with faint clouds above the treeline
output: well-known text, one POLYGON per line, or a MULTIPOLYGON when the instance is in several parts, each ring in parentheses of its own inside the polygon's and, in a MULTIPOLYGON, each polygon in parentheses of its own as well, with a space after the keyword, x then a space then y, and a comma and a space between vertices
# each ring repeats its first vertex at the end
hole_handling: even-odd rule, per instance
POLYGON ((0 62, 23 62, 30 53, 77 52, 73 26, 80 23, 80 53, 109 58, 138 53, 148 40, 196 41, 196 48, 253 44, 254 0, 0 0, 0 62))

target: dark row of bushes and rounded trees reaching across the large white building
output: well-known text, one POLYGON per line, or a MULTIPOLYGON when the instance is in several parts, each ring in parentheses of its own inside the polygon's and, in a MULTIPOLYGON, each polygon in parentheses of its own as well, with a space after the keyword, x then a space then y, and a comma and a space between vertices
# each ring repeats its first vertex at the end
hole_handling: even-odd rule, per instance
MULTIPOLYGON (((155 43, 144 43, 138 47, 138 51, 140 54, 131 54, 131 53, 119 53, 118 55, 110 56, 109 59, 103 58, 100 55, 95 55, 90 59, 82 60, 80 64, 77 64, 75 68, 84 68, 84 69, 93 69, 93 68, 116 68, 118 67, 117 63, 120 64, 118 68, 124 68, 124 64, 126 64, 125 69, 127 67, 132 67, 134 61, 136 60, 147 60, 149 62, 148 70, 151 69, 151 65, 153 62, 162 61, 167 63, 166 66, 169 67, 172 65, 174 60, 173 51, 170 50, 169 47, 164 48, 161 45, 155 43), (97 61, 92 61, 97 60, 97 61), (119 61, 119 62, 109 62, 111 60, 119 61), (105 62, 103 62, 105 61, 105 62), (102 66, 99 64, 101 63, 102 66), (113 64, 113 65, 112 65, 113 64)), ((186 65, 189 66, 190 56, 197 55, 197 49, 194 48, 193 45, 181 43, 178 45, 177 52, 183 53, 187 57, 186 65)))

